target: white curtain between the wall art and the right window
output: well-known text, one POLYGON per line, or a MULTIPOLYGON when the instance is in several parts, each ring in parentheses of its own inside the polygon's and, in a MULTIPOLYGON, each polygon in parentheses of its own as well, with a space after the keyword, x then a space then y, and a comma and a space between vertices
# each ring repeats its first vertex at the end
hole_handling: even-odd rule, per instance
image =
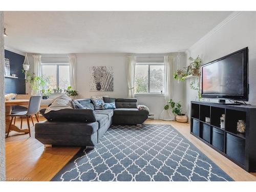
POLYGON ((135 83, 135 65, 136 56, 127 56, 126 59, 126 76, 128 84, 128 97, 134 98, 134 83, 135 83))

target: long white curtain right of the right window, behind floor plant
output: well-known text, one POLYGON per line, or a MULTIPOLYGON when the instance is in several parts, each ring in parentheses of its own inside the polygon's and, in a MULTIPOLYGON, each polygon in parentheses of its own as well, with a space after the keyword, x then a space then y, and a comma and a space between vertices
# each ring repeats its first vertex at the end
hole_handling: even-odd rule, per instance
MULTIPOLYGON (((164 98, 166 104, 168 104, 168 100, 172 99, 173 97, 173 84, 174 84, 174 56, 167 55, 164 56, 164 86, 165 86, 165 93, 164 98)), ((163 110, 160 119, 162 120, 174 120, 175 115, 173 114, 171 109, 163 110)))

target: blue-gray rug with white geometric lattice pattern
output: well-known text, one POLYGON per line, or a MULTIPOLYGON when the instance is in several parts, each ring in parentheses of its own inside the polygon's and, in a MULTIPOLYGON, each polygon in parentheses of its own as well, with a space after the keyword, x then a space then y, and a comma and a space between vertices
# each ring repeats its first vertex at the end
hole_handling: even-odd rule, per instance
POLYGON ((112 125, 52 181, 233 181, 170 125, 112 125))

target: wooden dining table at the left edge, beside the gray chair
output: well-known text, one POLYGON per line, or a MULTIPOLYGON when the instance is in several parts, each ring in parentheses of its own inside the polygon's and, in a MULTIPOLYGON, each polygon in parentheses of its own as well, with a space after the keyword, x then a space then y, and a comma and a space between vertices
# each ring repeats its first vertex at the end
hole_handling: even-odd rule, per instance
POLYGON ((19 133, 29 133, 29 129, 20 129, 15 124, 11 124, 11 117, 9 116, 12 113, 12 106, 16 105, 27 105, 29 104, 29 99, 11 99, 5 101, 5 133, 8 133, 8 129, 10 127, 10 131, 15 131, 19 133))

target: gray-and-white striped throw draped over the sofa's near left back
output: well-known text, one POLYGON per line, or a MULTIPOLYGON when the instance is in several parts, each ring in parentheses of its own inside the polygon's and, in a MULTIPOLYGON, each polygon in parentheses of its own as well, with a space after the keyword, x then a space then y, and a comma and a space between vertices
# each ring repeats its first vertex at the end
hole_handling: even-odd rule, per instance
POLYGON ((45 113, 50 111, 59 111, 62 109, 73 109, 72 99, 67 95, 61 95, 55 98, 50 106, 46 109, 45 113))

